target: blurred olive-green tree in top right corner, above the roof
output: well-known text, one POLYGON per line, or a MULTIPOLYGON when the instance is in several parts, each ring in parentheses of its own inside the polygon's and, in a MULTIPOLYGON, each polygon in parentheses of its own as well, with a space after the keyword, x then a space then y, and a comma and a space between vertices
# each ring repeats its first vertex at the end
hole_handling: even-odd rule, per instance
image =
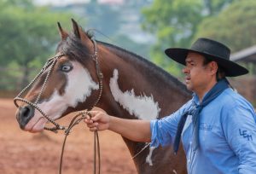
POLYGON ((215 38, 233 52, 256 44, 256 1, 232 3, 216 16, 201 22, 195 38, 215 38))

